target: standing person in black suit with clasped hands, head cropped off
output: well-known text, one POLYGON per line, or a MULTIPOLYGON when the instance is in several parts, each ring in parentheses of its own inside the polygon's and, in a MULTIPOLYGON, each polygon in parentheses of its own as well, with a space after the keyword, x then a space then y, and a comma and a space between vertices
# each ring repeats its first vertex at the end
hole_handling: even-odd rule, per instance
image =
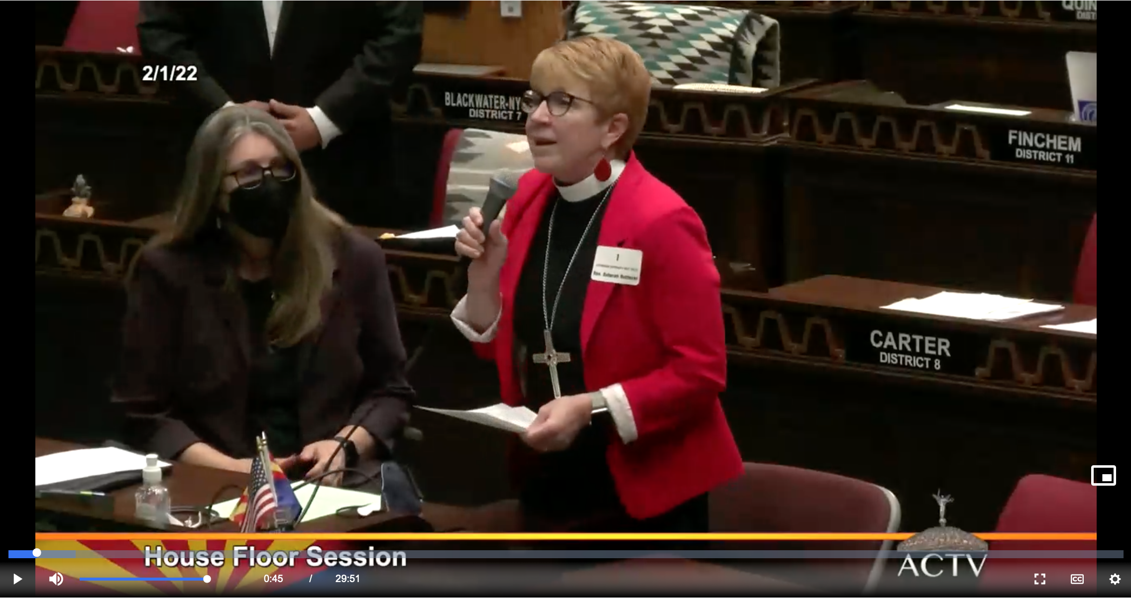
POLYGON ((423 21, 423 2, 143 1, 138 37, 153 64, 196 67, 175 83, 191 129, 231 103, 269 111, 330 208, 412 228, 422 210, 398 201, 389 94, 420 60, 423 21))

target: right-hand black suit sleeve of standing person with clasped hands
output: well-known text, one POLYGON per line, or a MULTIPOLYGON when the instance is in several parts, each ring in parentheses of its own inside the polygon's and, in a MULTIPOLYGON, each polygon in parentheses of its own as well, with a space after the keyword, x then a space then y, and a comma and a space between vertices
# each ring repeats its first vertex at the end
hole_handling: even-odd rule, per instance
POLYGON ((369 40, 353 64, 314 102, 343 131, 348 131, 364 111, 388 103, 389 92, 408 80, 421 58, 424 3, 372 5, 369 40))

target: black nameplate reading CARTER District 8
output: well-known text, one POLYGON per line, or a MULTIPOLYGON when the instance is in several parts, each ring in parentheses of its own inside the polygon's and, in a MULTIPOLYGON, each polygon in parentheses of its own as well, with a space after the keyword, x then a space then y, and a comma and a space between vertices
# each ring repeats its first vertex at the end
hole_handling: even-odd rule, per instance
POLYGON ((849 362, 929 374, 974 375, 988 346, 976 333, 904 319, 854 322, 847 331, 849 362))

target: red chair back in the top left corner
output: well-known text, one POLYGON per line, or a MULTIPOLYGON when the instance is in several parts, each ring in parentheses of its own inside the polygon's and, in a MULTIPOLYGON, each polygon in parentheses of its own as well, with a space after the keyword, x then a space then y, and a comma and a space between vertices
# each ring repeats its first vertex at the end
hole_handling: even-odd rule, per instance
POLYGON ((140 54, 138 46, 138 3, 136 1, 80 1, 67 29, 63 47, 78 52, 140 54))

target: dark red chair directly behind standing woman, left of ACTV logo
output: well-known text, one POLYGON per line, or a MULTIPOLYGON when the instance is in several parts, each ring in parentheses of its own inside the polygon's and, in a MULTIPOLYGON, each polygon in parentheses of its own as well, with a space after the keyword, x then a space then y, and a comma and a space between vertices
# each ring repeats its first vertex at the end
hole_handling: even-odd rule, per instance
MULTIPOLYGON (((782 465, 745 463, 744 467, 742 477, 710 493, 713 532, 879 534, 899 529, 899 500, 887 488, 836 474, 782 465)), ((727 541, 719 548, 740 548, 741 544, 727 541)), ((809 563, 821 566, 829 579, 869 591, 880 581, 891 540, 752 543, 741 548, 875 551, 875 560, 821 558, 809 563)), ((769 562, 787 564, 776 558, 769 562)), ((762 565, 766 564, 763 561, 762 565)), ((812 572, 809 567, 803 567, 802 571, 804 570, 810 574, 812 572)), ((789 581, 805 584, 810 580, 789 581)))

